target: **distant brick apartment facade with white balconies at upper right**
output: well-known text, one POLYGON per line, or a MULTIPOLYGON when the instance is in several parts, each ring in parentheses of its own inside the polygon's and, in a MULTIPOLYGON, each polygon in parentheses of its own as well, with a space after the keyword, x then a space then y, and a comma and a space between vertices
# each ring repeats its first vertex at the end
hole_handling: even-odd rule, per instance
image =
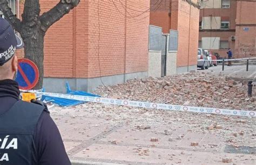
POLYGON ((210 0, 200 9, 199 47, 227 57, 231 48, 234 58, 255 56, 256 2, 210 0))

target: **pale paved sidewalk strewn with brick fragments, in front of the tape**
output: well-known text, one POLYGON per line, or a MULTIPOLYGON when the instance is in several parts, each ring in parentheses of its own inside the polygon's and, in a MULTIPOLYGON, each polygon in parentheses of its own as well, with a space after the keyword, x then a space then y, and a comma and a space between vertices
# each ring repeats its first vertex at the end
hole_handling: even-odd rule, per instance
MULTIPOLYGON (((96 106, 98 109, 100 107, 96 106)), ((221 164, 227 156, 236 164, 255 164, 255 119, 231 117, 225 121, 225 116, 163 112, 168 115, 165 121, 159 115, 155 120, 142 117, 136 121, 127 122, 124 119, 122 122, 117 118, 117 122, 114 122, 107 120, 107 117, 98 118, 97 114, 92 115, 93 110, 86 111, 86 106, 84 108, 62 110, 64 115, 52 114, 73 162, 221 164), (198 120, 191 120, 191 115, 198 120), (176 119, 177 116, 183 118, 176 119), (224 128, 207 130, 212 121, 217 121, 224 128), (241 123, 237 123, 239 121, 241 123), (136 128, 138 124, 151 128, 139 130, 136 128), (165 130, 169 130, 170 134, 166 135, 165 130), (151 138, 158 141, 151 142, 151 138), (191 142, 198 142, 199 146, 191 146, 191 142), (225 148, 231 144, 254 147, 254 154, 225 153, 225 148)), ((148 112, 143 110, 143 113, 148 112)))

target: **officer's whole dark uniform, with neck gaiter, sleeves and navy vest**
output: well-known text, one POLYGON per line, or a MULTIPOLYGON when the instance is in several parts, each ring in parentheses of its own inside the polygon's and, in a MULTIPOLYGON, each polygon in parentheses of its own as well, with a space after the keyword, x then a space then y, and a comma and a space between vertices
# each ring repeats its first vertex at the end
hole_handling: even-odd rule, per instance
POLYGON ((0 165, 70 165, 49 111, 18 97, 17 82, 0 81, 0 165))

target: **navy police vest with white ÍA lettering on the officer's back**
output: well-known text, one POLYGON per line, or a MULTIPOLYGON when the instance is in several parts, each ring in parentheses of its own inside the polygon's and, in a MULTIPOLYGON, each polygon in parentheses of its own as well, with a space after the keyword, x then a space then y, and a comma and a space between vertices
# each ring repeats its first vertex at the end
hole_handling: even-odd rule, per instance
POLYGON ((0 164, 37 164, 33 139, 44 107, 17 101, 0 116, 0 164))

